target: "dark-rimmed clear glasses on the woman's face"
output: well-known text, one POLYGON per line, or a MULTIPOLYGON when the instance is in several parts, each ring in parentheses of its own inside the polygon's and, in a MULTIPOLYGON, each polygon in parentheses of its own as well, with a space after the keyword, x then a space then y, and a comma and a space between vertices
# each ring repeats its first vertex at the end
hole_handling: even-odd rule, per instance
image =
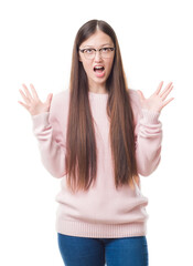
POLYGON ((100 49, 79 49, 79 51, 84 54, 85 59, 94 59, 96 52, 99 51, 101 58, 111 58, 115 48, 100 48, 100 49))

